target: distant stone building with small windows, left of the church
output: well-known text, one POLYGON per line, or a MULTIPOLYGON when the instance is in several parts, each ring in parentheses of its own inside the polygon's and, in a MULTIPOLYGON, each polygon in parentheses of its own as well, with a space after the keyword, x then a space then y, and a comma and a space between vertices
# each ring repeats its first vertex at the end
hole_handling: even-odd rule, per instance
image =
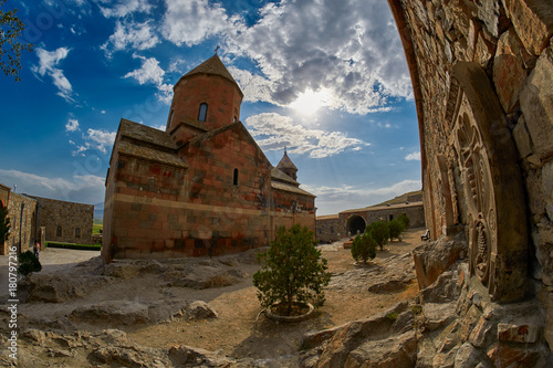
POLYGON ((94 206, 31 196, 38 203, 39 227, 46 241, 93 244, 94 206))

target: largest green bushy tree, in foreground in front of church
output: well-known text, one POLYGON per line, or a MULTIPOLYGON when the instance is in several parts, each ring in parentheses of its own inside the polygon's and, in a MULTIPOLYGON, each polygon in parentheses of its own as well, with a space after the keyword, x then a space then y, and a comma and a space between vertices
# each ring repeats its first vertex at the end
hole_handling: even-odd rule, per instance
POLYGON ((269 308, 283 305, 285 315, 292 315, 295 303, 324 304, 323 287, 328 285, 331 273, 321 251, 315 248, 313 232, 294 224, 286 231, 276 231, 270 249, 258 255, 265 265, 253 274, 261 305, 269 308))

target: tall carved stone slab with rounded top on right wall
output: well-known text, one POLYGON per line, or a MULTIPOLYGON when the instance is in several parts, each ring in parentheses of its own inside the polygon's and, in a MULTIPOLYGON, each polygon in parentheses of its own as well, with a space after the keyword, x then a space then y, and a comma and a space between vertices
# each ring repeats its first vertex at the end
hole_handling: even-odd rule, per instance
MULTIPOLYGON (((448 143, 457 153, 465 192, 462 219, 469 238, 469 269, 488 287, 493 299, 511 302, 525 293, 528 230, 520 169, 512 139, 505 139, 504 114, 486 73, 473 63, 453 67, 452 90, 446 118, 451 127, 448 143)), ((455 155, 451 155, 455 156, 455 155)), ((439 160, 441 180, 453 167, 439 160)), ((451 206, 451 221, 459 219, 451 206)))

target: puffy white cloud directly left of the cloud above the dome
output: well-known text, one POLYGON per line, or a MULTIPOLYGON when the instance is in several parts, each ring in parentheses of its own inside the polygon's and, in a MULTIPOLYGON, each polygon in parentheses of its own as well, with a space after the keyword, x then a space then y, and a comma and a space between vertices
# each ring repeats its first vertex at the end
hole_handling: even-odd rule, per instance
POLYGON ((101 49, 111 56, 113 51, 125 50, 128 45, 136 50, 154 48, 159 42, 149 21, 144 23, 117 21, 115 32, 101 49))

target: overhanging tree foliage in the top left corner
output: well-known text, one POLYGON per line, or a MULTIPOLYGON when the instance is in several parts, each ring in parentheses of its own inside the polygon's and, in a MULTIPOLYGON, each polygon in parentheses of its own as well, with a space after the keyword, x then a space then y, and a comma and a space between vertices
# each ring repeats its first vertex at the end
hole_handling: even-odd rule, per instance
MULTIPOLYGON (((6 4, 6 0, 0 0, 0 8, 6 4)), ((18 39, 24 30, 25 24, 17 17, 18 10, 6 11, 0 9, 0 69, 6 75, 13 75, 15 81, 21 70, 21 52, 33 51, 31 43, 20 43, 18 39)))

